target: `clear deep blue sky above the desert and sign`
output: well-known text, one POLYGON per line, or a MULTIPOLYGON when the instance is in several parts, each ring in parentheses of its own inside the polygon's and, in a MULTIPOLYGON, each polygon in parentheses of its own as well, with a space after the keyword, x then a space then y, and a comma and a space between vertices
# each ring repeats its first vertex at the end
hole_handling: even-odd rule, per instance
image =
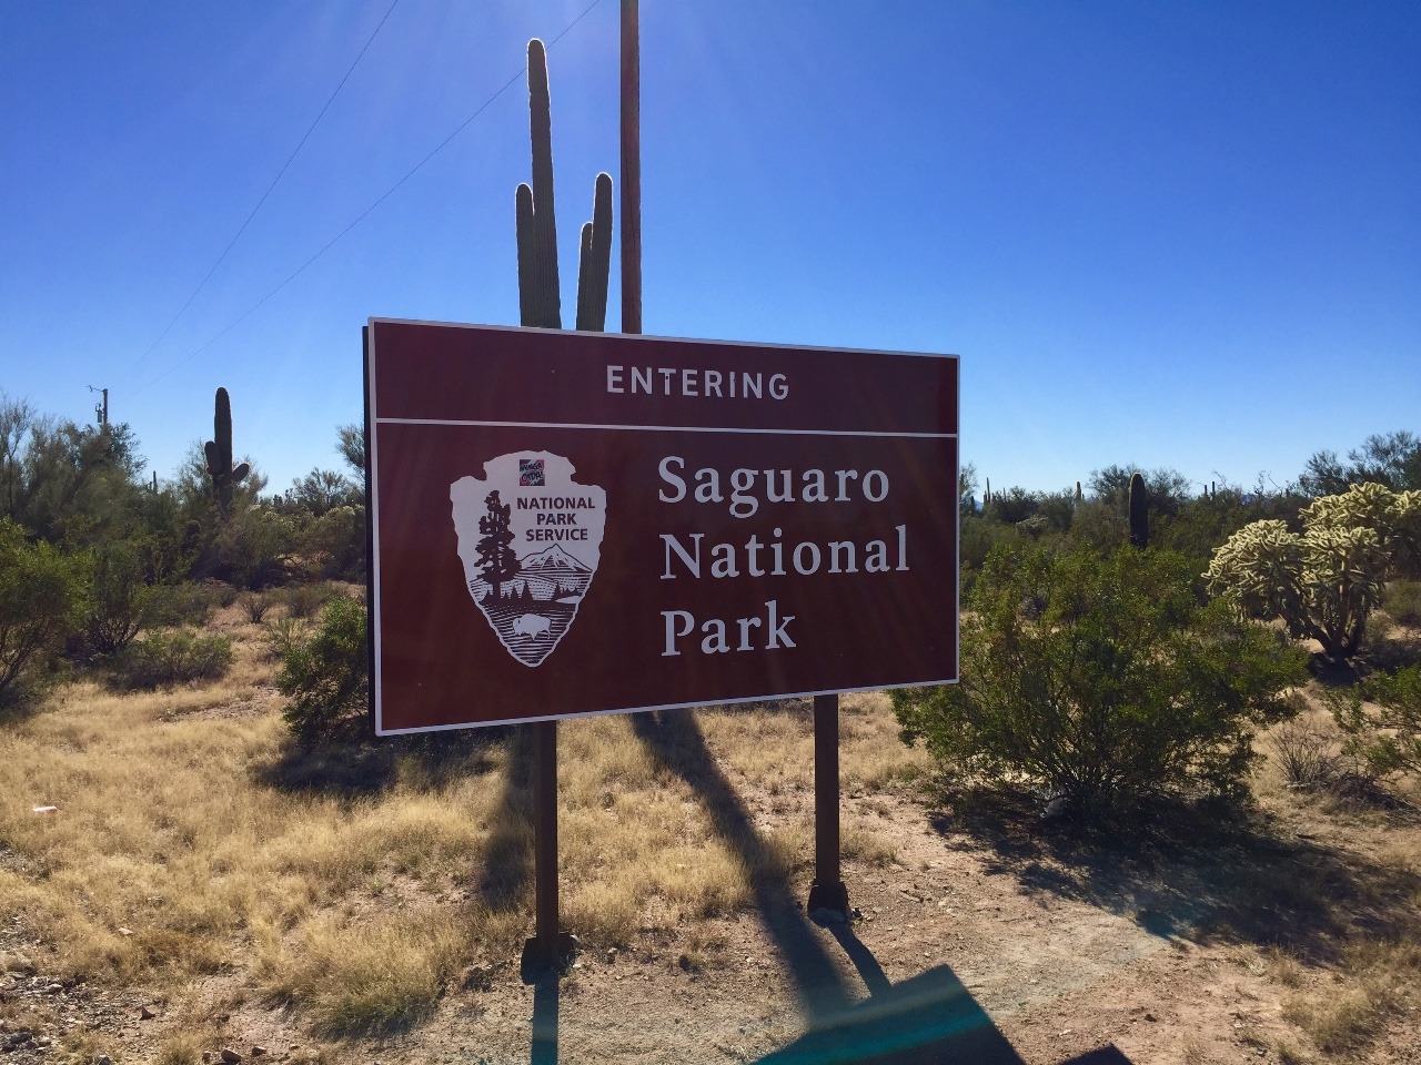
MULTIPOLYGON (((261 301, 590 1, 398 0, 166 334, 391 0, 0 6, 0 389, 166 477, 223 385, 271 488, 337 466, 369 315, 517 321, 524 80, 261 301)), ((648 334, 959 354, 993 486, 1421 432, 1421 6, 641 9, 648 334)), ((566 317, 617 27, 550 48, 566 317)))

